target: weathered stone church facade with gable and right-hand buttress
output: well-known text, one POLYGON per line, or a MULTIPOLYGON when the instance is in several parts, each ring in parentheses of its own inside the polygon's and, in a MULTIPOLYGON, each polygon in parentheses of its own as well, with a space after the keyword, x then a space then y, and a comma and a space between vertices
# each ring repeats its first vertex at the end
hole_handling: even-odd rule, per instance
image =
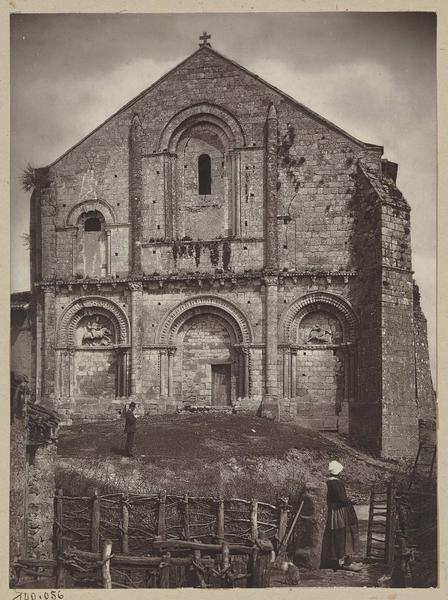
POLYGON ((35 171, 36 399, 65 422, 233 407, 413 454, 434 392, 382 153, 203 43, 35 171))

